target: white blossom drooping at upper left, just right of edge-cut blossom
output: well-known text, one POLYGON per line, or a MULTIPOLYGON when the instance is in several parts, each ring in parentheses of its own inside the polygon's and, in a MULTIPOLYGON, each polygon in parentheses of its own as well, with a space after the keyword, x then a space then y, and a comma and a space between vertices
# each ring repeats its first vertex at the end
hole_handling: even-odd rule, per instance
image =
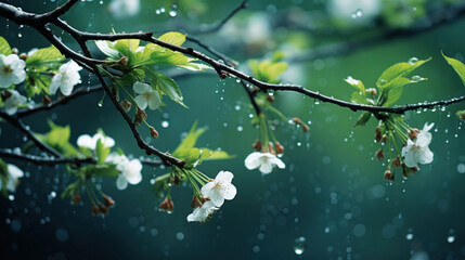
POLYGON ((62 92, 64 95, 69 95, 73 92, 73 88, 80 83, 79 70, 81 70, 77 63, 69 61, 62 66, 60 66, 59 73, 55 74, 50 83, 49 90, 50 93, 55 94, 56 90, 62 92))

